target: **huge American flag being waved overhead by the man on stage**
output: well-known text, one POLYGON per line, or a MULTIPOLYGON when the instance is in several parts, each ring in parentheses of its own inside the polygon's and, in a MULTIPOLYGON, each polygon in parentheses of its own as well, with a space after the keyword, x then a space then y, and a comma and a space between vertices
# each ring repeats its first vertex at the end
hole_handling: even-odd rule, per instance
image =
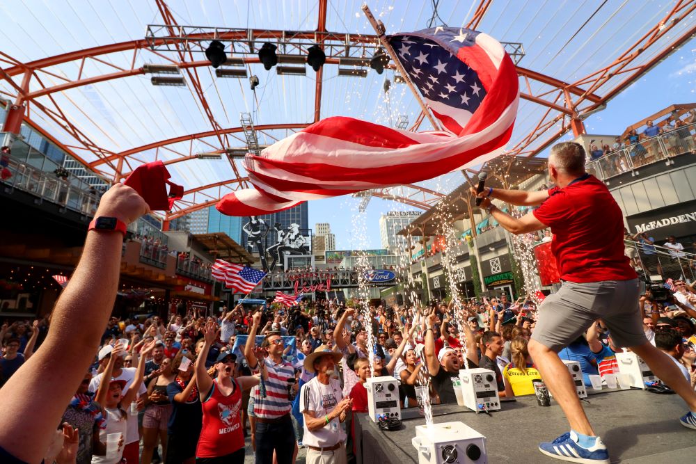
MULTIPOLYGON (((247 155, 255 189, 226 195, 223 214, 256 216, 306 200, 413 184, 496 157, 519 103, 515 66, 484 33, 436 27, 390 35, 442 130, 409 132, 337 116, 247 155)), ((438 128, 439 129, 439 128, 438 128)))

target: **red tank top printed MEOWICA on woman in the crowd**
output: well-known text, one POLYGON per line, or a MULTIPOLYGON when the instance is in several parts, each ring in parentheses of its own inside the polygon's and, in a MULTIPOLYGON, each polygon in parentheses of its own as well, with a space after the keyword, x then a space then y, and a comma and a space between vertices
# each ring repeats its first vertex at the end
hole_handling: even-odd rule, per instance
POLYGON ((244 448, 244 431, 239 409, 242 408, 242 389, 232 379, 235 390, 226 397, 213 381, 208 398, 201 403, 203 428, 200 430, 197 458, 218 458, 244 448))

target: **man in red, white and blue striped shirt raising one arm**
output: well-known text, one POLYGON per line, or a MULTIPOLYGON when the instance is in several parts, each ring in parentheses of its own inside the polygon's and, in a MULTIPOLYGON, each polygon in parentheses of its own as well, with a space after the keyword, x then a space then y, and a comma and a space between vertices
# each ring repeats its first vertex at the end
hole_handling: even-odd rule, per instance
POLYGON ((252 317, 252 326, 248 333, 244 356, 251 369, 257 369, 259 363, 266 364, 268 380, 264 381, 266 396, 260 394, 260 387, 254 387, 254 414, 256 415, 256 464, 273 463, 273 451, 276 451, 278 464, 290 464, 293 461, 295 432, 290 418, 290 401, 287 399, 288 379, 295 379, 295 370, 290 362, 283 360, 283 338, 277 332, 269 332, 261 346, 268 356, 259 360, 253 353, 256 333, 261 321, 261 312, 252 317))

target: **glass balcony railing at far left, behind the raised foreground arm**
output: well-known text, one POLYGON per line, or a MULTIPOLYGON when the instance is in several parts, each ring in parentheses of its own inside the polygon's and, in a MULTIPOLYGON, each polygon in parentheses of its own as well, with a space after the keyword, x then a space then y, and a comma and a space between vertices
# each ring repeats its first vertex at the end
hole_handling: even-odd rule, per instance
POLYGON ((70 182, 10 157, 7 169, 10 177, 1 179, 3 186, 19 189, 86 216, 94 216, 100 195, 80 189, 70 182))

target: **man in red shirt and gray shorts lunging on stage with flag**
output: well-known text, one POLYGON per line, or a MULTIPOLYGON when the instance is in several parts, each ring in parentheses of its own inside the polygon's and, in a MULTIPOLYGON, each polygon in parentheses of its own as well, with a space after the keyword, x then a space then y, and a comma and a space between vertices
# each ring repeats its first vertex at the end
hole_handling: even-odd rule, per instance
MULTIPOLYGON (((548 175, 555 187, 524 192, 485 189, 485 209, 506 230, 524 234, 551 227, 551 249, 562 280, 559 291, 539 307, 539 319, 529 353, 568 417, 571 431, 539 451, 553 458, 582 463, 609 463, 606 447, 592 430, 576 394, 568 369, 557 352, 602 319, 616 346, 628 346, 654 374, 677 392, 690 411, 683 426, 696 430, 696 393, 667 357, 644 335, 638 307, 638 278, 624 256, 621 209, 606 186, 585 172, 585 150, 574 142, 554 145, 548 157, 548 175), (496 198, 519 206, 539 206, 513 218, 491 204, 496 198)), ((472 193, 476 192, 472 189, 472 193)))

